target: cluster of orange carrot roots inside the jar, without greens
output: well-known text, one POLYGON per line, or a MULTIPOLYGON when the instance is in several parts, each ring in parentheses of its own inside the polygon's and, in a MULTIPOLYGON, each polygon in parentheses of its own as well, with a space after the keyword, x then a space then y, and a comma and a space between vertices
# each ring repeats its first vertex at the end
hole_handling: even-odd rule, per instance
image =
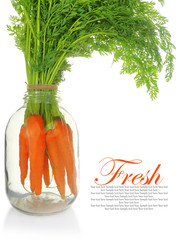
POLYGON ((19 166, 21 183, 24 186, 30 160, 30 188, 32 193, 41 194, 42 177, 50 185, 49 161, 55 182, 62 199, 65 199, 65 173, 71 192, 76 195, 76 168, 72 130, 63 120, 56 120, 54 128, 45 131, 40 115, 27 118, 19 134, 19 166))

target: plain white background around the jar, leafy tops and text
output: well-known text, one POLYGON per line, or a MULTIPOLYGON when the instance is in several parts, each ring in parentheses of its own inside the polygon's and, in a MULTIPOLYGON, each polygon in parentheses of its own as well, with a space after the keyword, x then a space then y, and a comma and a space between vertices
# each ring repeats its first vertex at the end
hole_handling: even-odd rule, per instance
POLYGON ((133 77, 121 76, 121 63, 94 54, 74 59, 59 87, 62 106, 77 122, 80 137, 80 192, 70 209, 32 217, 13 209, 5 193, 4 133, 10 116, 23 104, 26 73, 23 54, 6 30, 13 13, 10 0, 0 2, 0 238, 10 239, 180 239, 181 214, 181 34, 180 1, 166 0, 168 28, 177 47, 171 82, 160 75, 160 93, 151 101, 133 77), (169 208, 152 212, 106 212, 90 207, 90 186, 104 157, 141 158, 145 169, 162 164, 169 185, 169 208))

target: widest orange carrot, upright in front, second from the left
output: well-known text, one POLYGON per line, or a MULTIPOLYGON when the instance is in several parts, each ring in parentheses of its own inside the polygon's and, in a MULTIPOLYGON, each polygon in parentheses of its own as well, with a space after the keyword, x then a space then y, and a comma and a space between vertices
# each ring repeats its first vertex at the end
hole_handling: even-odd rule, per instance
POLYGON ((27 118, 27 136, 30 157, 30 188, 36 195, 41 194, 45 155, 45 128, 41 116, 27 118))

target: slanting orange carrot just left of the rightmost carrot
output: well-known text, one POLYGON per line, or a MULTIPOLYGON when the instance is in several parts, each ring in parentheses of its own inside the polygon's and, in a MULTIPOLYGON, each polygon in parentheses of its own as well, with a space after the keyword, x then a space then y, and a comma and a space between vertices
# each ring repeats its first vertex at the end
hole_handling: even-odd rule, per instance
POLYGON ((65 167, 57 145, 55 132, 52 129, 49 129, 46 132, 46 147, 58 191, 60 192, 62 199, 65 199, 65 167))

